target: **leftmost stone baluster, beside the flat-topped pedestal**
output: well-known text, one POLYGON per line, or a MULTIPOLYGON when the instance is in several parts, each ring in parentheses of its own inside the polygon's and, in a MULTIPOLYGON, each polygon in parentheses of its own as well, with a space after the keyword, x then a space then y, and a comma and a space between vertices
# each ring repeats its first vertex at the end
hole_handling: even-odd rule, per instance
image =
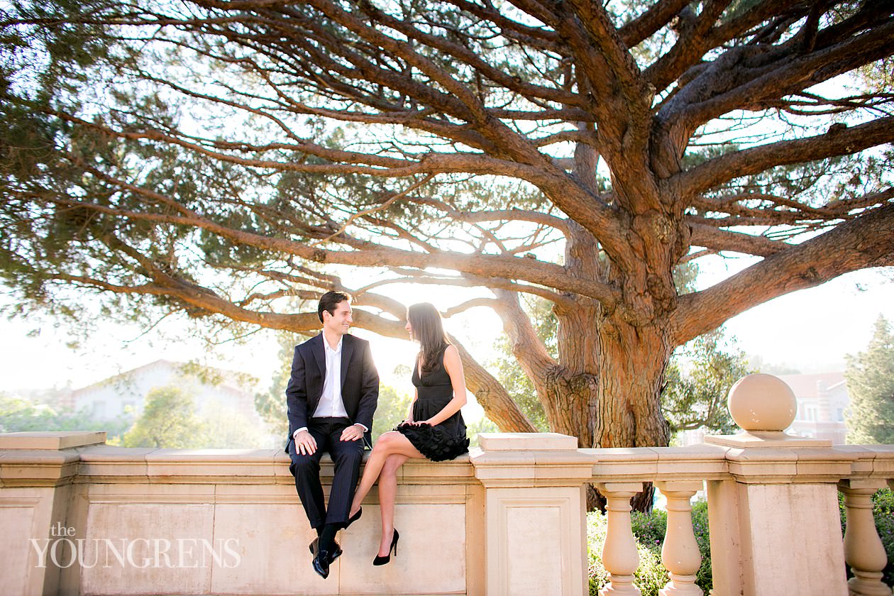
POLYGON ((609 572, 609 584, 600 594, 639 596, 641 592, 633 583, 633 574, 639 567, 639 553, 630 526, 630 499, 643 491, 643 483, 597 483, 596 487, 607 500, 608 524, 603 544, 603 567, 609 572))

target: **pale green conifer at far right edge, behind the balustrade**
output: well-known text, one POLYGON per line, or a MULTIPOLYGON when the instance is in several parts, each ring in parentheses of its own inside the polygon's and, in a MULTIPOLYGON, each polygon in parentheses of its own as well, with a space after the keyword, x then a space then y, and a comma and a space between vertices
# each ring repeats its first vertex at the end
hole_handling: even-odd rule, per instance
POLYGON ((848 443, 894 443, 894 334, 885 317, 875 322, 865 352, 848 355, 848 443))

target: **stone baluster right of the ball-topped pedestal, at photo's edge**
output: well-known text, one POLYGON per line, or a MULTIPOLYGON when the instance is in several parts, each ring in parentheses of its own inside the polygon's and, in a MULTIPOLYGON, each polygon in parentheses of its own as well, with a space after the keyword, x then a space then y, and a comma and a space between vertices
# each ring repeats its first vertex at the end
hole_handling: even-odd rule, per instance
POLYGON ((854 577, 848 581, 852 596, 890 596, 888 586, 881 583, 881 570, 888 563, 884 546, 875 529, 873 500, 875 491, 883 488, 883 480, 843 480, 839 491, 844 493, 848 525, 844 533, 844 558, 854 577))

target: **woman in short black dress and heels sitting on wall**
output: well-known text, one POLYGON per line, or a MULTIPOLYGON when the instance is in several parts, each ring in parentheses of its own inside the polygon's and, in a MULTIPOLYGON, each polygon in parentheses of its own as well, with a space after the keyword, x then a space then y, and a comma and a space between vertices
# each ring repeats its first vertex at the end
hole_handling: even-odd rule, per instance
POLYGON ((360 516, 360 503, 378 479, 382 541, 373 565, 388 563, 392 551, 397 555, 400 534, 394 529, 394 498, 398 468, 409 457, 443 461, 468 452, 466 424, 460 414, 460 407, 466 405, 460 351, 447 340, 441 315, 428 303, 407 309, 405 329, 411 339, 419 342, 419 354, 413 367, 416 396, 409 419, 393 431, 384 432, 375 441, 350 506, 350 521, 353 521, 360 516))

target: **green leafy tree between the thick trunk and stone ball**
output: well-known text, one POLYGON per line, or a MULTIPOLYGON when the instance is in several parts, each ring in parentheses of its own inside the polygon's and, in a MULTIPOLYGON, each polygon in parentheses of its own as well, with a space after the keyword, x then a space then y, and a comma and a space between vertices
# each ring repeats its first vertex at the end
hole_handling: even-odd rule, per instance
POLYGON ((734 340, 724 337, 722 327, 678 349, 662 389, 662 407, 671 432, 701 427, 735 432, 727 394, 734 382, 751 372, 745 353, 735 348, 734 340))

